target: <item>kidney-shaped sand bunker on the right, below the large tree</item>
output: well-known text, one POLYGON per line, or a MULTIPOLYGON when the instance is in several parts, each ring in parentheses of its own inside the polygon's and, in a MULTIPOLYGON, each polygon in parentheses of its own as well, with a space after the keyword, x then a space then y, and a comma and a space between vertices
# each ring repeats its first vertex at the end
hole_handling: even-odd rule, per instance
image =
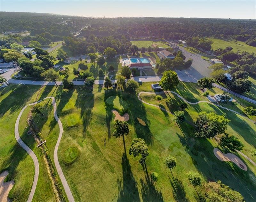
POLYGON ((245 171, 247 170, 247 167, 244 164, 244 162, 239 157, 237 157, 235 154, 233 154, 233 153, 222 153, 217 148, 213 149, 213 153, 220 161, 231 161, 231 162, 235 163, 239 168, 241 168, 245 171))

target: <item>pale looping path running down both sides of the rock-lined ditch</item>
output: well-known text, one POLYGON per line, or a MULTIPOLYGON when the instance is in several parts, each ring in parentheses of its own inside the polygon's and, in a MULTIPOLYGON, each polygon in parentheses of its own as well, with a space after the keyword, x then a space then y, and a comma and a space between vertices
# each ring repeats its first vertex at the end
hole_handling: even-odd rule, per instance
MULTIPOLYGON (((46 97, 43 100, 45 100, 45 99, 52 99, 54 118, 58 122, 58 125, 60 127, 59 138, 57 140, 57 143, 56 143, 55 148, 54 148, 54 153, 53 153, 54 164, 55 164, 56 170, 58 172, 58 175, 60 177, 60 180, 61 180, 61 183, 63 185, 63 188, 64 188, 64 190, 66 192, 67 197, 68 197, 68 201, 69 202, 75 202, 75 200, 73 198, 73 195, 72 195, 72 193, 70 191, 70 188, 68 186, 67 180, 66 180, 66 178, 65 178, 65 176, 64 176, 64 174, 62 172, 62 169, 60 167, 59 160, 58 160, 58 148, 59 148, 60 140, 61 140, 61 137, 62 137, 62 134, 63 134, 63 127, 62 127, 62 123, 61 123, 59 117, 57 116, 56 101, 55 101, 54 97, 46 97)), ((31 202, 32 201, 33 196, 34 196, 35 191, 36 191, 36 184, 37 184, 38 175, 39 175, 39 163, 38 163, 36 154, 20 138, 20 135, 19 135, 19 122, 20 122, 20 117, 21 117, 22 113, 24 112, 24 110, 28 106, 35 105, 35 104, 37 104, 37 103, 39 103, 39 102, 41 102, 43 100, 39 100, 37 102, 28 104, 25 107, 23 107, 21 109, 20 114, 19 114, 19 116, 18 116, 18 118, 16 120, 16 123, 15 123, 15 130, 14 130, 15 138, 16 138, 17 142, 19 143, 19 145, 31 156, 32 160, 34 161, 34 165, 35 165, 34 181, 33 181, 33 185, 32 185, 32 188, 31 188, 31 191, 30 191, 30 194, 29 194, 27 202, 31 202)))

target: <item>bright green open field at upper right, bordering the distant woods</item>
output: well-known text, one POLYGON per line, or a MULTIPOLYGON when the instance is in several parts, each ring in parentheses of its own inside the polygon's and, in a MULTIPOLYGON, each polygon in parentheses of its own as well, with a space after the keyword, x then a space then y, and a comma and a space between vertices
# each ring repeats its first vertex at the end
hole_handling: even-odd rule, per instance
POLYGON ((237 50, 247 51, 249 53, 255 53, 256 47, 249 46, 243 41, 237 41, 235 43, 235 39, 215 39, 215 38, 205 38, 213 41, 212 49, 216 50, 218 48, 225 49, 227 46, 231 46, 233 51, 236 52, 237 50))

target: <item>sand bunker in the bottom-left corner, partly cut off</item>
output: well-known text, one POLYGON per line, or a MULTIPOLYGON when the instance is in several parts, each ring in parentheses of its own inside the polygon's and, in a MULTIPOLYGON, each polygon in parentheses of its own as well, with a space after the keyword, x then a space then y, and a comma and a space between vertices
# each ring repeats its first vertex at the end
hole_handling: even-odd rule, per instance
POLYGON ((8 171, 4 171, 0 174, 0 201, 7 202, 8 194, 11 191, 14 181, 4 182, 5 177, 8 175, 8 171))

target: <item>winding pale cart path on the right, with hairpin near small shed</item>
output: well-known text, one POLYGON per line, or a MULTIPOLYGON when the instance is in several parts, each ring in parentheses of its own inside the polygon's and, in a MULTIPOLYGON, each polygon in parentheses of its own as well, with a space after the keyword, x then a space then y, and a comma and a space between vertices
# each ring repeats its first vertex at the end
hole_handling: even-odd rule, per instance
MULTIPOLYGON (((175 94, 177 97, 179 97, 180 99, 182 99, 183 101, 185 101, 185 102, 187 102, 187 103, 189 103, 189 104, 195 105, 195 104, 198 104, 198 103, 201 103, 201 102, 206 102, 206 103, 209 103, 209 104, 213 104, 213 105, 215 105, 215 106, 217 106, 217 107, 220 107, 220 108, 223 108, 223 109, 227 109, 228 111, 234 112, 234 113, 236 113, 236 114, 238 114, 238 115, 240 115, 240 116, 243 116, 243 117, 245 117, 246 119, 252 121, 252 120, 251 120, 250 118, 248 118, 247 116, 244 116, 244 115, 240 114, 239 112, 237 112, 237 111, 235 111, 235 110, 232 110, 232 109, 229 109, 229 108, 226 108, 226 107, 222 107, 222 106, 220 106, 220 105, 218 105, 218 104, 214 104, 214 103, 209 102, 209 101, 189 102, 189 101, 187 101, 185 98, 183 98, 182 96, 180 96, 179 94, 177 94, 176 92, 173 92, 173 91, 167 91, 167 92, 172 93, 172 94, 175 94)), ((147 105, 150 105, 150 106, 153 106, 153 107, 157 107, 157 108, 159 108, 159 109, 161 109, 161 110, 163 110, 163 111, 165 111, 165 112, 167 112, 167 113, 169 113, 169 114, 172 114, 172 112, 166 110, 165 108, 159 107, 159 106, 154 105, 154 104, 150 104, 150 103, 148 103, 148 102, 146 102, 146 101, 143 101, 143 100, 140 98, 140 95, 141 95, 141 94, 160 94, 160 93, 163 93, 163 91, 162 91, 162 92, 154 92, 154 93, 153 93, 153 92, 145 92, 145 91, 142 91, 142 92, 138 93, 138 99, 139 99, 141 102, 143 102, 143 103, 145 103, 145 104, 147 104, 147 105)), ((172 115, 173 115, 173 114, 172 114, 172 115)), ((253 122, 253 123, 254 123, 254 122, 253 122)), ((246 156, 244 153, 242 153, 242 152, 240 152, 240 151, 238 151, 238 150, 236 150, 236 152, 237 152, 237 153, 240 153, 242 156, 244 156, 244 158, 246 158, 248 161, 250 161, 250 162, 252 163, 252 165, 256 166, 256 163, 255 163, 254 161, 252 161, 252 159, 250 159, 250 158, 249 158, 248 156, 246 156)))

